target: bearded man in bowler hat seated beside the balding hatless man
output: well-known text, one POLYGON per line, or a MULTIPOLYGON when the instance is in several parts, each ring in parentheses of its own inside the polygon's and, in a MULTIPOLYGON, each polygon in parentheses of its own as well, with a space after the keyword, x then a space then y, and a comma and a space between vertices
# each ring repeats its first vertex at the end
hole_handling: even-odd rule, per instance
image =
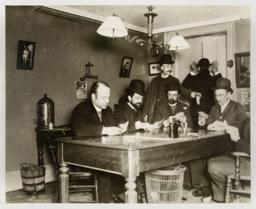
POLYGON ((135 79, 130 82, 129 88, 125 90, 129 101, 121 103, 115 111, 114 119, 116 126, 122 127, 128 122, 127 130, 129 131, 139 129, 152 130, 153 128, 161 127, 161 120, 153 125, 144 122, 141 112, 143 98, 146 95, 144 88, 145 84, 141 80, 135 79))

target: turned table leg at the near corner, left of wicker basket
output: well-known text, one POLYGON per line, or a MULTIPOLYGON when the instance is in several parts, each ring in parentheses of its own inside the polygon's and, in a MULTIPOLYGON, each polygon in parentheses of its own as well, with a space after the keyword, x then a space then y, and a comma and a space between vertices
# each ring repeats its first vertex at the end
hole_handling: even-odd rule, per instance
POLYGON ((137 203, 137 192, 136 189, 136 177, 125 177, 125 184, 126 192, 125 194, 125 203, 137 203))

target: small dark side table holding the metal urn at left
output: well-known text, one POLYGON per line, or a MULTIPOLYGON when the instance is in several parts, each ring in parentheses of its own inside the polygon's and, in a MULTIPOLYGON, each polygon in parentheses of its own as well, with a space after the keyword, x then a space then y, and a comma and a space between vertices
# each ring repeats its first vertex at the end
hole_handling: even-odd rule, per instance
POLYGON ((44 155, 42 148, 48 140, 54 140, 56 137, 71 136, 71 126, 59 127, 54 129, 36 128, 36 147, 38 166, 44 166, 44 155))

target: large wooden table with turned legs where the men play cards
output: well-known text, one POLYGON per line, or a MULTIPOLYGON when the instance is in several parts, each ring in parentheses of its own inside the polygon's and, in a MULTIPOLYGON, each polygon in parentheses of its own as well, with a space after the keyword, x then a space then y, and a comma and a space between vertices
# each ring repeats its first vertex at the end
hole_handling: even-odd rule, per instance
POLYGON ((67 164, 122 175, 127 182, 125 203, 137 203, 135 180, 140 172, 223 153, 234 147, 229 134, 205 130, 199 131, 197 137, 175 140, 164 129, 121 136, 62 137, 54 141, 58 143, 61 202, 69 202, 67 164))

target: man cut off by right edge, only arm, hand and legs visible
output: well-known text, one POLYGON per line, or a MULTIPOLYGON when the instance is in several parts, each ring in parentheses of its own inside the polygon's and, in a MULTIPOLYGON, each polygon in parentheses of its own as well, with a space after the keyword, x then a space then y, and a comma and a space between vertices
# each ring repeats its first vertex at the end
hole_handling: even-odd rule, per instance
MULTIPOLYGON (((239 136, 238 128, 228 126, 226 129, 230 138, 236 143, 236 151, 250 154, 250 118, 247 119, 243 137, 239 136)), ((218 202, 224 201, 226 176, 234 174, 234 157, 219 156, 208 160, 208 173, 211 177, 213 199, 218 202)), ((250 174, 250 158, 240 158, 240 174, 250 174)))

